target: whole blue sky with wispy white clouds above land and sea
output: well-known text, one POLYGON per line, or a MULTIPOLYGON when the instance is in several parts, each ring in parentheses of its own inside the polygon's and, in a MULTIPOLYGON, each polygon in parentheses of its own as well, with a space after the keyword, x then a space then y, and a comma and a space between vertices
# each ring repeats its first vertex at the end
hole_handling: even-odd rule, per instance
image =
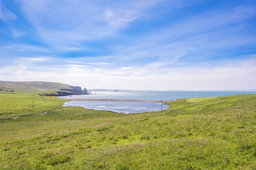
POLYGON ((256 89, 256 1, 0 0, 0 80, 256 89))

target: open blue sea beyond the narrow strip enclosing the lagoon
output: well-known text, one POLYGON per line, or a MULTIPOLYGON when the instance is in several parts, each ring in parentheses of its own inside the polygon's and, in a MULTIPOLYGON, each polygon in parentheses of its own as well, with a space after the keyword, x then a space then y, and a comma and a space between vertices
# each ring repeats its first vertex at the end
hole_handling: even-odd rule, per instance
POLYGON ((256 90, 89 90, 89 95, 70 95, 62 99, 116 99, 116 100, 147 100, 170 101, 193 97, 224 97, 230 95, 256 94, 256 90))

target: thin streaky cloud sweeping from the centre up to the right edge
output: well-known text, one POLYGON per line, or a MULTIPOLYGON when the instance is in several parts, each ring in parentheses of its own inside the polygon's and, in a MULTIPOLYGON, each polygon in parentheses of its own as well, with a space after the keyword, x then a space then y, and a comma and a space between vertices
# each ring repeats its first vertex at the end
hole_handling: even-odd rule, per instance
MULTIPOLYGON (((175 63, 182 57, 194 61, 226 55, 222 50, 253 45, 256 36, 247 34, 246 27, 237 24, 256 15, 255 5, 239 5, 237 8, 217 9, 188 17, 149 34, 129 38, 114 48, 116 60, 136 64, 138 60, 175 63), (225 16, 225 17, 223 17, 225 16), (236 23, 236 24, 235 24, 236 23), (231 24, 235 24, 230 27, 231 24), (209 54, 211 53, 211 55, 209 54)), ((232 50, 231 50, 232 49, 232 50)))

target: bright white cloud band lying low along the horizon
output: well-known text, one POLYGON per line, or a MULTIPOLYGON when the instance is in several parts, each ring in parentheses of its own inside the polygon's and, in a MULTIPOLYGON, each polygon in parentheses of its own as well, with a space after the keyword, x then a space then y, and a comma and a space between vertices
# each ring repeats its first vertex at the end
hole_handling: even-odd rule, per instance
MULTIPOLYGON (((44 80, 86 88, 123 88, 132 90, 243 90, 256 86, 256 58, 222 62, 218 66, 162 67, 161 62, 145 66, 116 68, 82 65, 42 67, 36 62, 19 60, 0 67, 1 80, 44 80), (35 69, 39 68, 39 69, 35 69), (45 69, 44 69, 45 68, 45 69), (63 79, 65 77, 65 79, 63 79)), ((65 61, 63 61, 65 62, 65 61)))

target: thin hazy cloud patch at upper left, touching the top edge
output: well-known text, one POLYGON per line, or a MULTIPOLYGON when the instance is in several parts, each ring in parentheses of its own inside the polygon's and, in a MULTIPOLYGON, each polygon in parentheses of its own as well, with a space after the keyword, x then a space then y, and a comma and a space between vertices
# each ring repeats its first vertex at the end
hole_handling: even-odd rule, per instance
POLYGON ((22 0, 22 9, 41 38, 58 49, 83 40, 114 34, 161 1, 32 1, 22 0), (54 27, 54 29, 52 29, 54 27))

